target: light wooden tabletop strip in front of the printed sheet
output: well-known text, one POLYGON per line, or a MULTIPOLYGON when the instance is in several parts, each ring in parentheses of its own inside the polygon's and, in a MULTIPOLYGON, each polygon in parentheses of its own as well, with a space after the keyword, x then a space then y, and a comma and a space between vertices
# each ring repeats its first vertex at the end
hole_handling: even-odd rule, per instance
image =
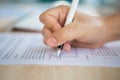
POLYGON ((120 68, 0 65, 0 80, 120 80, 120 68))

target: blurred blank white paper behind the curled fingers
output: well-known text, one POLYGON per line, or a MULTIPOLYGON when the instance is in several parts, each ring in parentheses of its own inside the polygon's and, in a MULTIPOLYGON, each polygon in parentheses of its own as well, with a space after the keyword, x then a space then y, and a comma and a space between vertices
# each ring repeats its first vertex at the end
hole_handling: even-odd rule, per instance
POLYGON ((14 29, 41 31, 43 24, 39 21, 42 11, 35 11, 14 24, 14 29))

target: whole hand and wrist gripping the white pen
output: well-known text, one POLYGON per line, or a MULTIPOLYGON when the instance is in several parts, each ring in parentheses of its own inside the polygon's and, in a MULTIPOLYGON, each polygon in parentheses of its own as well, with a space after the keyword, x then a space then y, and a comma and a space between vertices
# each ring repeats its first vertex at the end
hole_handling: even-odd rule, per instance
POLYGON ((99 48, 120 40, 120 14, 93 17, 76 11, 73 22, 64 26, 68 11, 68 6, 58 6, 40 15, 46 45, 57 47, 64 43, 64 50, 70 50, 71 46, 99 48))

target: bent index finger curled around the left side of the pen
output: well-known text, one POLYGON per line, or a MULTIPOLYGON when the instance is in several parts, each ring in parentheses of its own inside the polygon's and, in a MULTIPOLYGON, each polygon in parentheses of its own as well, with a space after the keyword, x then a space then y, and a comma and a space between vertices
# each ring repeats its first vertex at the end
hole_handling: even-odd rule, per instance
POLYGON ((40 21, 52 31, 56 31, 64 25, 68 10, 68 6, 58 6, 49 9, 40 15, 40 21))

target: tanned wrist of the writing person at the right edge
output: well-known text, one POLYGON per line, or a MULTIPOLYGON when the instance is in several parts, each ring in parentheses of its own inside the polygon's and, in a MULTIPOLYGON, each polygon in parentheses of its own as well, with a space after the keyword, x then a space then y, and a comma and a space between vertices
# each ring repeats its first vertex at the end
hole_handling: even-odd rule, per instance
POLYGON ((120 40, 119 20, 116 20, 115 16, 103 17, 102 20, 104 27, 106 28, 108 41, 120 40))

